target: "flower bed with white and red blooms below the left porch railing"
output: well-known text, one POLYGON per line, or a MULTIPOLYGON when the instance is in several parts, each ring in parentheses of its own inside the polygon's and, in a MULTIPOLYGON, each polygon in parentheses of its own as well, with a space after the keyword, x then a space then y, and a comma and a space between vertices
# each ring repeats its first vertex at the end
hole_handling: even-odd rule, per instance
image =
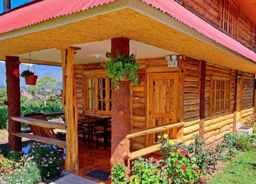
POLYGON ((38 183, 56 179, 61 159, 52 146, 33 142, 27 154, 0 150, 0 181, 4 183, 38 183))

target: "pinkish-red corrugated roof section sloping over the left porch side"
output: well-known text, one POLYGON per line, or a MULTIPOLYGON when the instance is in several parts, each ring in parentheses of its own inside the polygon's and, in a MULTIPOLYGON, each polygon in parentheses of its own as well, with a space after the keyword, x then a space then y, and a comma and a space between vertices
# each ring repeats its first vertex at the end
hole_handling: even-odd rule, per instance
POLYGON ((115 0, 45 0, 0 16, 0 34, 31 26, 51 18, 68 15, 115 0))

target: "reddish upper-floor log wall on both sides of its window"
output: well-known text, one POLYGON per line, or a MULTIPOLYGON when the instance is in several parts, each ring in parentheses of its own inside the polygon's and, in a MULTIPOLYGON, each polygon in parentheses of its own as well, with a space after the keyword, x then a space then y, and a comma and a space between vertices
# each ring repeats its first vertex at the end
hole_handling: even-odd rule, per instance
MULTIPOLYGON (((176 0, 179 1, 185 8, 194 12, 217 29, 220 26, 220 0, 176 0)), ((236 1, 233 1, 236 4, 236 1)), ((238 34, 237 39, 248 49, 256 52, 256 29, 253 22, 246 16, 238 6, 238 34)))

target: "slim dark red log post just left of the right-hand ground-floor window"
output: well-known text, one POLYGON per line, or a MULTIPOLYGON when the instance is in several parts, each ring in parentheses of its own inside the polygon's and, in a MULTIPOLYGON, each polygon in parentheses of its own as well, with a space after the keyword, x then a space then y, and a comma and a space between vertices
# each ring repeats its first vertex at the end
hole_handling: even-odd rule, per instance
POLYGON ((205 77, 206 77, 206 61, 200 60, 199 135, 202 139, 204 139, 205 77))

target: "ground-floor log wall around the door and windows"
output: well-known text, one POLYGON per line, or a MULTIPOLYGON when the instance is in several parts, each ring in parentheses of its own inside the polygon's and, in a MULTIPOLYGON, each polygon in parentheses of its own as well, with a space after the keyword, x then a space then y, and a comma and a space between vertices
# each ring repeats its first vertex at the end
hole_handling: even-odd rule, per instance
MULTIPOLYGON (((178 72, 179 68, 167 67, 164 57, 137 59, 141 66, 137 72, 140 82, 131 87, 131 130, 146 128, 146 97, 147 97, 147 74, 178 72)), ((200 110, 200 60, 184 57, 184 108, 183 108, 183 139, 185 144, 194 141, 194 134, 199 133, 199 110, 200 110)), ((83 75, 100 72, 100 64, 84 64, 75 66, 78 114, 81 118, 84 114, 84 91, 83 75)), ((206 62, 205 76, 205 122, 204 137, 207 143, 213 143, 223 138, 224 134, 232 131, 233 104, 234 104, 234 74, 235 71, 206 62), (230 78, 230 102, 229 108, 219 113, 209 114, 210 79, 211 76, 230 78)), ((251 116, 253 76, 243 74, 243 98, 242 98, 242 121, 251 116)), ((182 90, 182 89, 181 89, 182 90)), ((138 136, 131 140, 132 149, 139 150, 145 147, 145 136, 138 136)))

